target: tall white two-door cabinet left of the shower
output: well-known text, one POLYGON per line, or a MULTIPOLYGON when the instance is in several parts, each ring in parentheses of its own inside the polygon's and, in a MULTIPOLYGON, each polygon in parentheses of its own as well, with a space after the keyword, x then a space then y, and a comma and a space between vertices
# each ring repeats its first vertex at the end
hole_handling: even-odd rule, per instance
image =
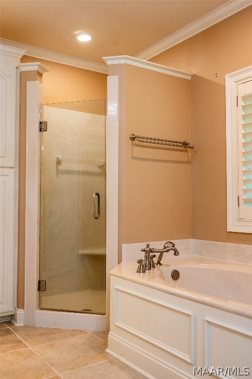
POLYGON ((14 313, 17 259, 17 64, 24 50, 0 45, 0 316, 14 313))

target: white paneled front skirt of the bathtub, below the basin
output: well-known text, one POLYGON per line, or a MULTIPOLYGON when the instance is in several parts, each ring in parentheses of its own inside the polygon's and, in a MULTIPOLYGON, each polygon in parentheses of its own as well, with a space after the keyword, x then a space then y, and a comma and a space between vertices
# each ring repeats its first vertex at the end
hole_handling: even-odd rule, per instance
MULTIPOLYGON (((225 369, 234 365, 240 365, 241 370, 250 366, 246 378, 252 379, 251 312, 246 317, 227 312, 222 306, 212 307, 211 302, 206 305, 194 298, 183 299, 179 291, 179 296, 175 295, 176 290, 167 293, 154 272, 135 275, 135 266, 123 265, 129 265, 128 280, 121 266, 118 271, 113 270, 115 276, 111 275, 109 354, 149 379, 193 379, 194 367, 225 369), (184 331, 188 325, 191 346, 195 347, 191 362, 184 359, 186 354, 189 356, 190 333, 184 331)), ((240 376, 231 373, 227 377, 240 376)))

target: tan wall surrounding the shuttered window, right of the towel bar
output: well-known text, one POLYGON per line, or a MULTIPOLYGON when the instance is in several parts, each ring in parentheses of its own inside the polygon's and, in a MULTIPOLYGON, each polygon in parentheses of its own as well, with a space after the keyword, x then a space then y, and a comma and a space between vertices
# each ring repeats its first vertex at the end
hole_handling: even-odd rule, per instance
POLYGON ((192 238, 252 244, 226 231, 225 75, 252 64, 252 6, 151 61, 191 79, 192 238))

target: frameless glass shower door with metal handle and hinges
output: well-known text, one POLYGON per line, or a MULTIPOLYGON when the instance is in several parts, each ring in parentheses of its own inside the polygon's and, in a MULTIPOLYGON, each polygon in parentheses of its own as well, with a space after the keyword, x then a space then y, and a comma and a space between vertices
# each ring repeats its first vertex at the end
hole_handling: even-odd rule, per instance
POLYGON ((105 109, 41 107, 40 309, 105 314, 105 109))

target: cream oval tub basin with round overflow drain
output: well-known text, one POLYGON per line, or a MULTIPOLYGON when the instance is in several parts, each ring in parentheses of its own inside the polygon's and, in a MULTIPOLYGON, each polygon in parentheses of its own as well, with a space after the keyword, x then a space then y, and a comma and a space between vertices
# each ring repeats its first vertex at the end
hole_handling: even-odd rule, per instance
MULTIPOLYGON (((183 256, 172 257, 166 261, 160 268, 155 268, 155 275, 164 280, 164 285, 171 286, 186 294, 199 296, 195 301, 201 301, 203 296, 205 299, 213 299, 221 306, 219 302, 227 304, 227 300, 232 303, 243 303, 252 305, 252 265, 236 264, 205 257, 183 256), (177 260, 176 260, 177 258, 177 260), (180 272, 178 280, 174 280, 171 276, 172 271, 176 269, 180 272)), ((206 303, 206 301, 204 301, 206 303)), ((230 304, 229 310, 244 314, 241 305, 230 304)), ((248 316, 252 317, 248 307, 248 316)))

